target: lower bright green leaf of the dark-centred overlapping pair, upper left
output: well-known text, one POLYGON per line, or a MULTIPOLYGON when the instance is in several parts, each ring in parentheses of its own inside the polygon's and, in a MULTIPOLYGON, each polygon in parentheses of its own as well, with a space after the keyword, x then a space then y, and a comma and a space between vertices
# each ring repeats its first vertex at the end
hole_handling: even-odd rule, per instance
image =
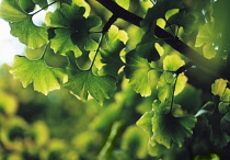
POLYGON ((51 38, 51 48, 56 54, 66 55, 72 50, 76 57, 81 56, 81 50, 71 41, 71 31, 57 28, 55 30, 55 37, 51 38))

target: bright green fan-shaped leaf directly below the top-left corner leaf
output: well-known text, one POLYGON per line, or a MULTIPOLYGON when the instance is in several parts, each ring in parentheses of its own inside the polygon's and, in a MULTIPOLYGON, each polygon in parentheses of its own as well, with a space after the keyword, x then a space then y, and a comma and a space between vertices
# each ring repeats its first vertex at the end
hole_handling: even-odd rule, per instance
POLYGON ((24 18, 23 21, 10 23, 10 26, 11 34, 19 37, 28 48, 39 48, 48 43, 47 28, 34 25, 32 15, 24 18))

